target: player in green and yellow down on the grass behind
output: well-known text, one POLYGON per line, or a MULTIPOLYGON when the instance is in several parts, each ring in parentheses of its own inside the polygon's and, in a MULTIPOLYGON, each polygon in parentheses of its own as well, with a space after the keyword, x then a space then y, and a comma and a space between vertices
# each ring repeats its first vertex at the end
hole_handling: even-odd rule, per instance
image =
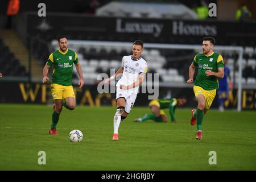
POLYGON ((159 98, 158 100, 152 100, 148 105, 152 114, 145 114, 142 118, 135 119, 135 122, 143 122, 147 120, 153 120, 155 122, 167 122, 166 114, 163 109, 169 109, 172 122, 177 122, 175 118, 176 106, 183 106, 187 103, 185 97, 180 98, 159 98))

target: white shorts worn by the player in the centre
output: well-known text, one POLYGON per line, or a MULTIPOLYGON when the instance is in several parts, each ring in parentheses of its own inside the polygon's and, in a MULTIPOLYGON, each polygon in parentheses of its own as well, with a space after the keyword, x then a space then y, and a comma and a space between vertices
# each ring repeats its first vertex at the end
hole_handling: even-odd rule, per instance
POLYGON ((120 88, 117 88, 117 97, 118 98, 125 98, 125 112, 130 113, 131 108, 134 106, 134 102, 136 100, 137 94, 130 93, 128 90, 123 90, 120 88))

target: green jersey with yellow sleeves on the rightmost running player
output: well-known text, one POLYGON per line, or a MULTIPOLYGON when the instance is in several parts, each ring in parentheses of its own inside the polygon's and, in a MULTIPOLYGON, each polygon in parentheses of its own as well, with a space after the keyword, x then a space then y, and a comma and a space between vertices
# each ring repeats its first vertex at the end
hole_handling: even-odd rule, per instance
POLYGON ((194 57, 193 65, 198 66, 195 85, 201 86, 205 90, 218 89, 218 78, 213 75, 207 76, 205 71, 218 72, 218 68, 224 67, 224 61, 220 54, 213 52, 207 56, 200 53, 194 57))

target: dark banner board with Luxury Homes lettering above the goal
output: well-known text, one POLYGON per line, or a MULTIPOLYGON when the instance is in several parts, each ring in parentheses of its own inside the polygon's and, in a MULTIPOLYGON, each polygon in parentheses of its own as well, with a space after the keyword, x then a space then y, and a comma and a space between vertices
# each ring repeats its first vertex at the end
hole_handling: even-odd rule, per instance
POLYGON ((132 42, 142 39, 148 43, 199 44, 204 36, 214 36, 218 45, 254 46, 254 22, 238 23, 217 20, 168 20, 108 18, 86 15, 37 13, 27 15, 27 33, 47 40, 59 34, 78 40, 107 40, 132 42), (151 28, 155 27, 155 28, 151 28), (236 27, 236 28, 234 28, 236 27))

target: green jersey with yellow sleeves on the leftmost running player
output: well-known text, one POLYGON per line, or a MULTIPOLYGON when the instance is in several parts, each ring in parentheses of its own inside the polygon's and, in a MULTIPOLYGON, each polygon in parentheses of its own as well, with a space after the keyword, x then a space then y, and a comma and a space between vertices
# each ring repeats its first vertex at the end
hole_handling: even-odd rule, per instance
POLYGON ((51 53, 46 64, 53 65, 52 84, 72 85, 73 63, 77 64, 78 61, 76 52, 71 49, 65 53, 59 49, 51 53))

